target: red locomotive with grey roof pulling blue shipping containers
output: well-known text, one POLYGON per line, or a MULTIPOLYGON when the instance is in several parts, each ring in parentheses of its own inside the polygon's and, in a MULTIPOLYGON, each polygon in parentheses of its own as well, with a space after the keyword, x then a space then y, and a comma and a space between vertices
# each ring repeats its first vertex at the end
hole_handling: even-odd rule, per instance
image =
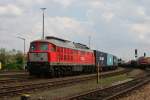
POLYGON ((30 75, 64 76, 94 73, 100 69, 115 69, 118 58, 114 55, 61 38, 48 36, 30 43, 27 69, 30 75))

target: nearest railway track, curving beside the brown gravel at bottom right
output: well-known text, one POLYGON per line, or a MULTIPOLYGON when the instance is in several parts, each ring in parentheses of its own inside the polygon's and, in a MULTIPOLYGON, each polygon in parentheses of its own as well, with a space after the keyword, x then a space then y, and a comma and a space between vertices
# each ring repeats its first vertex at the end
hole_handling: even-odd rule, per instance
POLYGON ((131 81, 107 87, 104 89, 94 89, 84 93, 76 94, 63 98, 65 100, 114 100, 127 92, 137 89, 138 87, 150 82, 150 74, 144 77, 138 77, 131 81))

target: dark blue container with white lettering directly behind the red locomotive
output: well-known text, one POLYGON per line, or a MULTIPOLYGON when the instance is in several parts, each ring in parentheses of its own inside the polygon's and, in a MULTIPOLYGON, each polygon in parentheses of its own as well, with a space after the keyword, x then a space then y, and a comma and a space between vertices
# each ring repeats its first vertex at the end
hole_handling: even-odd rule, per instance
POLYGON ((94 50, 94 55, 95 55, 95 63, 96 65, 100 65, 102 67, 106 67, 107 66, 107 53, 98 51, 98 50, 94 50))

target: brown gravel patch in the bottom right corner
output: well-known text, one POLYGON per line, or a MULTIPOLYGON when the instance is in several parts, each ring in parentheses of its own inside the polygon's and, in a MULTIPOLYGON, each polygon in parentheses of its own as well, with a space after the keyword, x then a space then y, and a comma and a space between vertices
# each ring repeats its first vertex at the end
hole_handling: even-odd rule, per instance
POLYGON ((118 100, 150 100, 150 83, 118 100))

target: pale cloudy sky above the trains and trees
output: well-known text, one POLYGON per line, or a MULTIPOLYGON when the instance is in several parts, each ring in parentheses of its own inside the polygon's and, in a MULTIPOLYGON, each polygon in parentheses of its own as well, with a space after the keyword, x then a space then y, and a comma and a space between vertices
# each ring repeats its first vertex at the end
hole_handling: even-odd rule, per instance
POLYGON ((26 51, 42 37, 42 11, 45 35, 89 44, 91 48, 123 59, 146 52, 150 56, 149 0, 1 0, 0 48, 26 51))

